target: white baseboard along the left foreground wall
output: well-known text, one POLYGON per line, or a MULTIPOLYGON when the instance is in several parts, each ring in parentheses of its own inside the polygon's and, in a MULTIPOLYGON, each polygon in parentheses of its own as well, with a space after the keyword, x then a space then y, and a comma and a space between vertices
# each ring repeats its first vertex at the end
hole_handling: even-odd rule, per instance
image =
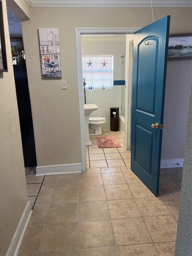
POLYGON ((17 255, 31 214, 31 203, 28 201, 5 256, 17 255))

